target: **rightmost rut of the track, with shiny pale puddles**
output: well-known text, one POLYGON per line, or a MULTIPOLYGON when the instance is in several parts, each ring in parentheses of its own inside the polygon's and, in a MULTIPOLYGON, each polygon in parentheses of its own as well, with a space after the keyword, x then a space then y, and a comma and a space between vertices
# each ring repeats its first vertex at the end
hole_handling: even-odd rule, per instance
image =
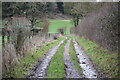
POLYGON ((75 39, 73 39, 73 44, 75 47, 76 55, 80 62, 80 66, 83 69, 83 74, 85 78, 99 78, 97 70, 94 68, 94 65, 92 64, 91 60, 83 52, 83 50, 78 45, 78 43, 75 41, 75 39))

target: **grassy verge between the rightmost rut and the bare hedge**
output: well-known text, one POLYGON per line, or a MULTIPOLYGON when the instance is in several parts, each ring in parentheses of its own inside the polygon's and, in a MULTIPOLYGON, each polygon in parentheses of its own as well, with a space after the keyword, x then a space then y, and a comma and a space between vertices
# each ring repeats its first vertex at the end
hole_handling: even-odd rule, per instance
POLYGON ((118 54, 101 48, 96 43, 77 37, 77 42, 82 46, 92 61, 104 71, 106 77, 118 78, 118 54))

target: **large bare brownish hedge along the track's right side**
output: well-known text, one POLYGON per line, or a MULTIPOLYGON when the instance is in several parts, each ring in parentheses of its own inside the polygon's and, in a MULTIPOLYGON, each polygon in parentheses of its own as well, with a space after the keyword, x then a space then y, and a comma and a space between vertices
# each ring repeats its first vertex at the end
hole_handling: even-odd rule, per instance
POLYGON ((100 10, 87 15, 74 32, 95 41, 100 46, 117 50, 118 44, 118 3, 105 3, 100 10))

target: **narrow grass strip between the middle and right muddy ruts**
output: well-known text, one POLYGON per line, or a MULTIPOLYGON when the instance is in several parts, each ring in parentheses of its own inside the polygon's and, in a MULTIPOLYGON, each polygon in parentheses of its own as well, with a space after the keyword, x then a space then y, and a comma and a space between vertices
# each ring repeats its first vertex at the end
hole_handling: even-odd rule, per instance
POLYGON ((80 63, 78 62, 76 52, 73 46, 72 41, 70 42, 70 49, 69 49, 70 59, 74 63, 75 68, 77 69, 78 73, 82 75, 82 68, 80 67, 80 63))

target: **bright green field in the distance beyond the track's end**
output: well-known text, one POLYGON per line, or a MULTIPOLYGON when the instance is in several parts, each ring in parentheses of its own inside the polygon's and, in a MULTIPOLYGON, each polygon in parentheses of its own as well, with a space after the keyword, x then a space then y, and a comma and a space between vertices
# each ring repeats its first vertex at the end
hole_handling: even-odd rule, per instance
POLYGON ((49 33, 57 33, 59 28, 66 28, 65 34, 70 34, 70 28, 74 25, 72 20, 50 20, 49 33))

